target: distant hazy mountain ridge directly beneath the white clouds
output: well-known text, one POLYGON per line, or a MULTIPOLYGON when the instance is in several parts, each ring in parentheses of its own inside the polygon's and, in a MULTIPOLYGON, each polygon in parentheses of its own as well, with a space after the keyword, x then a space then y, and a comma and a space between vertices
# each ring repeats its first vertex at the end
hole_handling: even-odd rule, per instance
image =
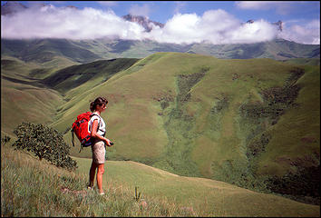
POLYGON ((85 64, 111 58, 143 58, 157 52, 205 54, 220 59, 271 58, 320 58, 320 45, 301 45, 283 39, 256 44, 211 45, 211 44, 161 44, 151 40, 68 40, 30 39, 1 40, 1 55, 46 64, 63 58, 74 64, 85 64))

